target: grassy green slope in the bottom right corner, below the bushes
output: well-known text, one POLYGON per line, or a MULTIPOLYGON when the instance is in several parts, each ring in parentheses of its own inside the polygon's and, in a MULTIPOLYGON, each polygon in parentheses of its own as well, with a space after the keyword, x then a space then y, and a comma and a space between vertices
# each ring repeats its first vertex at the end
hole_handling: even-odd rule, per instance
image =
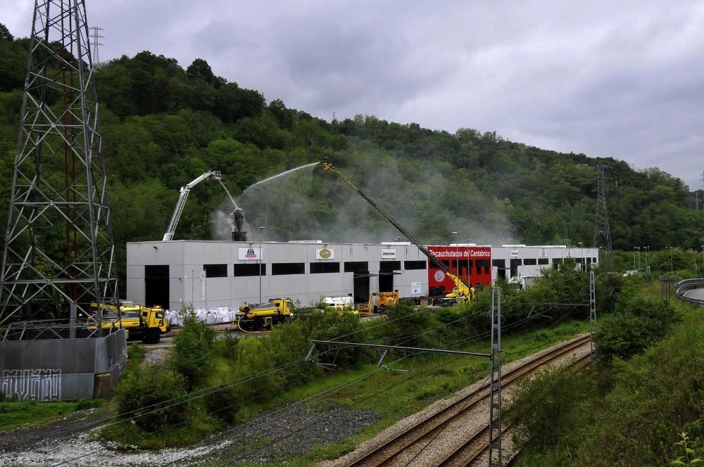
MULTIPOLYGON (((645 293, 659 298, 659 284, 646 285, 645 293)), ((704 314, 700 307, 672 304, 683 319, 666 338, 631 359, 601 366, 598 374, 562 381, 571 390, 561 398, 556 439, 530 442, 517 466, 668 465, 684 454, 675 444, 683 432, 694 443, 692 457, 703 457, 704 314)))

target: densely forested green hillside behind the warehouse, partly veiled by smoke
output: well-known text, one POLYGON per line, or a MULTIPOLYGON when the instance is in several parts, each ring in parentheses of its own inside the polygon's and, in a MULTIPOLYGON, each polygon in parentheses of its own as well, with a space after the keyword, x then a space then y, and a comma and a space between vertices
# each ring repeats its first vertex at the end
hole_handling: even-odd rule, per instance
MULTIPOLYGON (((1 205, 10 190, 27 43, 0 28, 1 205)), ((591 245, 599 163, 609 167, 614 248, 704 243, 704 216, 693 210, 691 193, 659 169, 556 153, 496 132, 451 134, 369 115, 326 122, 243 89, 236 78, 213 75, 205 60, 184 69, 148 51, 97 70, 120 255, 127 241, 161 239, 180 186, 207 169, 222 171, 251 238, 267 226, 267 240, 394 240, 384 219, 320 165, 247 189, 325 157, 428 243, 455 241, 457 231, 458 240, 476 243, 591 245)), ((231 211, 222 186, 203 182, 191 191, 175 238, 227 238, 231 211)))

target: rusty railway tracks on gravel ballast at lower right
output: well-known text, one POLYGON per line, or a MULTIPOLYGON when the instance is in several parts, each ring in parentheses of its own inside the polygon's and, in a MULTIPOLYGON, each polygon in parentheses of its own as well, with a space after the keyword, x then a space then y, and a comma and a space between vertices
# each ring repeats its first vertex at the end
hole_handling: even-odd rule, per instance
MULTIPOLYGON (((502 373, 502 390, 513 385, 515 381, 527 373, 531 373, 555 362, 555 360, 565 357, 570 352, 589 344, 589 336, 577 338, 567 343, 553 348, 549 352, 542 354, 535 359, 525 362, 516 368, 502 373)), ((579 359, 574 364, 584 364, 584 359, 579 359)), ((589 359, 586 360, 589 363, 589 359)), ((475 425, 467 440, 459 446, 449 449, 449 453, 435 461, 432 465, 441 466, 467 466, 474 462, 482 453, 488 449, 488 421, 483 426, 476 426, 477 418, 488 418, 489 407, 489 383, 485 382, 479 388, 472 390, 467 395, 460 397, 443 409, 409 426, 402 433, 392 437, 383 444, 366 452, 358 459, 354 459, 346 465, 378 467, 378 466, 406 466, 412 462, 418 454, 426 447, 429 447, 436 438, 440 437, 445 430, 448 433, 461 433, 462 437, 467 437, 466 426, 475 425), (471 421, 471 420, 474 421, 471 421)), ((503 431, 510 427, 503 427, 503 431)), ((502 432, 503 433, 503 432, 502 432)), ((435 449, 437 450, 437 449, 435 449)), ((444 450, 444 449, 443 449, 444 450)), ((425 465, 425 463, 424 463, 425 465)))

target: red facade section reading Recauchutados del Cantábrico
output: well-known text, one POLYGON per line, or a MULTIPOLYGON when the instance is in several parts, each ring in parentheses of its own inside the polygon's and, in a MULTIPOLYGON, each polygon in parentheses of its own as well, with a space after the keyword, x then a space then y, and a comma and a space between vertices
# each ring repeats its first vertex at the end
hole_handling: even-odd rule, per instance
MULTIPOLYGON (((470 286, 476 287, 482 283, 491 286, 491 247, 489 246, 429 246, 430 250, 441 262, 448 264, 452 274, 459 277, 470 286), (469 265, 469 268, 467 268, 469 265), (469 274, 467 275, 467 270, 469 274)), ((442 287, 445 292, 454 288, 454 282, 439 267, 428 260, 428 286, 442 287)))

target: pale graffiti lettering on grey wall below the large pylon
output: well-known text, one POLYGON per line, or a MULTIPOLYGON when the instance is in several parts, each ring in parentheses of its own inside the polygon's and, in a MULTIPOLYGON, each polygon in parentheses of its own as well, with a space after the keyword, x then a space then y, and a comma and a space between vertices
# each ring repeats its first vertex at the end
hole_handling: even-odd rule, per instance
POLYGON ((61 370, 5 370, 0 376, 0 395, 14 400, 61 400, 61 370))

